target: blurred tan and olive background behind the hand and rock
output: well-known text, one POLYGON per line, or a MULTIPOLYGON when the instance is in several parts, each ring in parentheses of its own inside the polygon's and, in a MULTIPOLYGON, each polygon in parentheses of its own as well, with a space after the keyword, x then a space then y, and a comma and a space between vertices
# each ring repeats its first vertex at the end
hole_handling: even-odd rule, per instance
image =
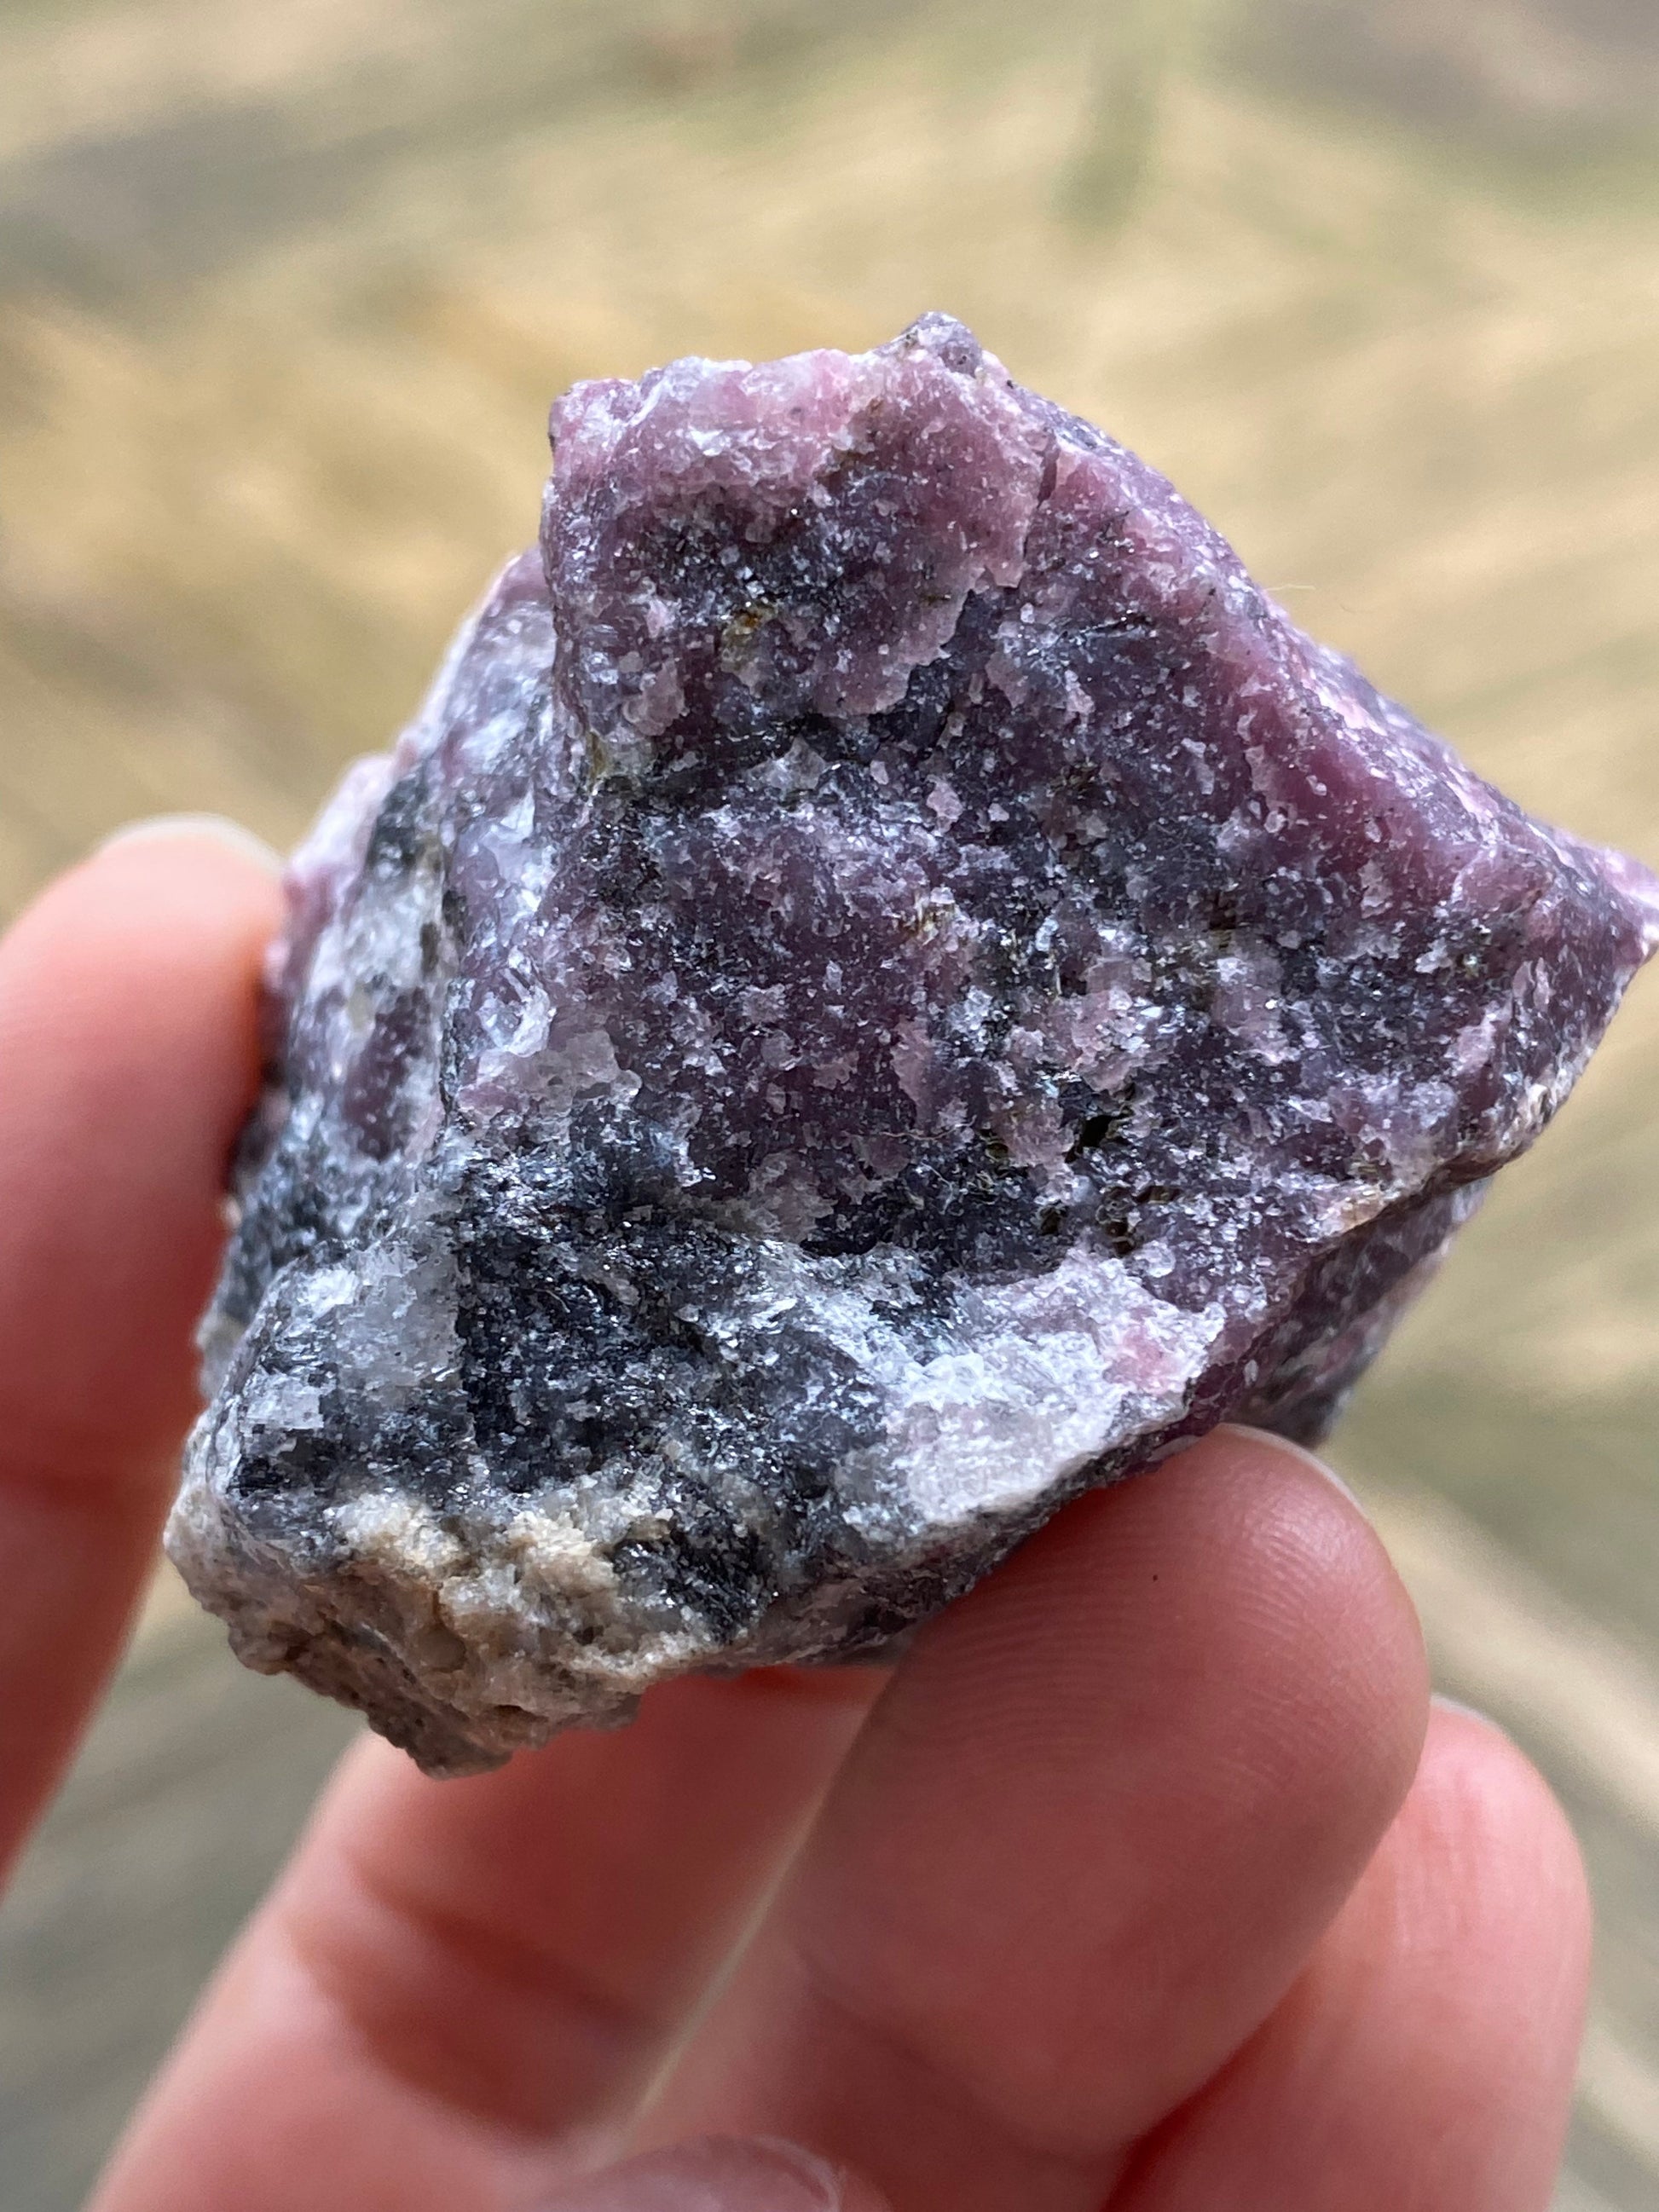
MULTIPOLYGON (((288 843, 571 378, 922 307, 1659 863, 1652 0, 4 0, 0 914, 135 814, 288 843)), ((1559 2212, 1659 2208, 1657 1091, 1646 978, 1336 1453, 1590 1860, 1559 2212)), ((349 1725, 157 1579, 0 1911, 7 2212, 80 2201, 349 1725)))

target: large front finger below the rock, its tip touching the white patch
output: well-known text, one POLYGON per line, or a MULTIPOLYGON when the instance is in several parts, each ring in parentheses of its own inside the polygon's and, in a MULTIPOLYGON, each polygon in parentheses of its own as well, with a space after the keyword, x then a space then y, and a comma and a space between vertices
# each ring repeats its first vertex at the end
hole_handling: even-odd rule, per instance
POLYGON ((898 1670, 641 2141, 783 2135, 900 2212, 1097 2212, 1405 1796, 1411 1606, 1294 1447, 1084 1500, 898 1670))

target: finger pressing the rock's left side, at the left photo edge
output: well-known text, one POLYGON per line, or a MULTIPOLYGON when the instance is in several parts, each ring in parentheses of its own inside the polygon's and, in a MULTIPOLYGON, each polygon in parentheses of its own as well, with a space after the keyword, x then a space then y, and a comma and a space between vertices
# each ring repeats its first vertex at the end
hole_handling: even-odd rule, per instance
POLYGON ((0 1867, 155 1548, 276 909, 252 841, 157 825, 0 942, 0 1867))

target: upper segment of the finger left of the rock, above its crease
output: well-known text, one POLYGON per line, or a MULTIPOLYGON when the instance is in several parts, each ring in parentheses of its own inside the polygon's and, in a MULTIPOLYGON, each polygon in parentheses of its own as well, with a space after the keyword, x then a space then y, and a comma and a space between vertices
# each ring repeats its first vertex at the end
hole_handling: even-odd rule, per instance
POLYGON ((281 889, 199 827, 117 838, 0 942, 0 1409, 13 1451, 157 1447, 188 1418, 190 1327, 259 1082, 281 889))

